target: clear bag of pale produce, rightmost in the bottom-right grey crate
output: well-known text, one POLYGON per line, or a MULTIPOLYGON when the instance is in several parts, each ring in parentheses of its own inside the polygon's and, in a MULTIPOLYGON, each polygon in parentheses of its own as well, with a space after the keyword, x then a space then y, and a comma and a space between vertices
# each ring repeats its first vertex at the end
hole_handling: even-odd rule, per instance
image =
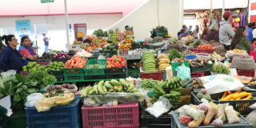
POLYGON ((229 123, 240 122, 238 115, 235 113, 235 110, 233 109, 233 106, 226 106, 225 112, 226 118, 229 121, 229 123))

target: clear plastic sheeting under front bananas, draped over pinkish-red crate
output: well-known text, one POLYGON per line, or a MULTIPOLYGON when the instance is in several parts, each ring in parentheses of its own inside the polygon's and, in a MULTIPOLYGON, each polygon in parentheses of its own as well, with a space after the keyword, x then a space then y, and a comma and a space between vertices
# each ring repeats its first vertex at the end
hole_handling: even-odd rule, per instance
POLYGON ((84 98, 84 105, 86 106, 100 106, 113 102, 114 100, 119 103, 142 102, 147 95, 147 91, 138 90, 136 93, 119 93, 110 92, 106 95, 87 95, 84 98))

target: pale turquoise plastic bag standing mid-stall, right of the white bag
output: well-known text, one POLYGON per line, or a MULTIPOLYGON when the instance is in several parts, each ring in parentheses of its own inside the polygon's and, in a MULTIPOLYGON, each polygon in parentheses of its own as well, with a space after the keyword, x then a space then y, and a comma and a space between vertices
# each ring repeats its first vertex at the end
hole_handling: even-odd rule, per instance
POLYGON ((186 67, 184 63, 182 63, 182 66, 178 66, 175 70, 177 71, 177 77, 182 79, 191 78, 190 68, 186 67))

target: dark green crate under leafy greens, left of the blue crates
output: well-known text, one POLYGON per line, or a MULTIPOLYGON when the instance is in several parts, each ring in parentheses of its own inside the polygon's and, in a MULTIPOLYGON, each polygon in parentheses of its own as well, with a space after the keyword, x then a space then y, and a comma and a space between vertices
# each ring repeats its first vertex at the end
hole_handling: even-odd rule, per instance
POLYGON ((26 128, 26 111, 16 111, 10 115, 10 128, 26 128))

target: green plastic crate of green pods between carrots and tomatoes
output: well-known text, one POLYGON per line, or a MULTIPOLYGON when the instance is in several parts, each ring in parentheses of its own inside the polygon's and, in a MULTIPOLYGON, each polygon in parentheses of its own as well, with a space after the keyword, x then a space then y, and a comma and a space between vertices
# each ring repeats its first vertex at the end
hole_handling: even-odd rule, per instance
MULTIPOLYGON (((86 66, 91 65, 91 64, 98 64, 106 67, 106 59, 90 59, 87 63, 86 66)), ((96 74, 105 74, 105 68, 104 69, 84 69, 85 75, 96 75, 96 74)))

